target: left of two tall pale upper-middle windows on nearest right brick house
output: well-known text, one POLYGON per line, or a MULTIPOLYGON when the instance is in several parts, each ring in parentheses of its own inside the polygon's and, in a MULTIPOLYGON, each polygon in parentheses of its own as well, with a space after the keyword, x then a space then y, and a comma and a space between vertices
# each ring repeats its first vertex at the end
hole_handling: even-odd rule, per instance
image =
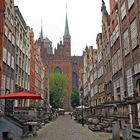
POLYGON ((123 33, 123 45, 124 45, 124 54, 125 56, 129 53, 129 37, 128 29, 123 33))

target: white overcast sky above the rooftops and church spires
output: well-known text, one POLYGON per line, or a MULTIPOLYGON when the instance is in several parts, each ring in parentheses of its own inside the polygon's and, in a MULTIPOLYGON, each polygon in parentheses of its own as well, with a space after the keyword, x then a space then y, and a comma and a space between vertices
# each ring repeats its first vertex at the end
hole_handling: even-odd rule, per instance
MULTIPOLYGON (((101 32, 101 0, 15 0, 28 26, 33 28, 35 39, 41 30, 57 46, 63 38, 66 17, 71 35, 72 55, 82 55, 86 43, 96 48, 96 35, 101 32)), ((109 0, 105 0, 109 9, 109 0)))

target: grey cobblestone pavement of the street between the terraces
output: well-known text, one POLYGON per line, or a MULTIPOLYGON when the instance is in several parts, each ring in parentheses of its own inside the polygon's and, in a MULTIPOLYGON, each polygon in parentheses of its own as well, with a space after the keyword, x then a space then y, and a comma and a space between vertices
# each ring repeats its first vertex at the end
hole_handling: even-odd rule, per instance
POLYGON ((110 133, 92 132, 70 116, 59 117, 38 131, 38 136, 26 140, 108 140, 110 133))

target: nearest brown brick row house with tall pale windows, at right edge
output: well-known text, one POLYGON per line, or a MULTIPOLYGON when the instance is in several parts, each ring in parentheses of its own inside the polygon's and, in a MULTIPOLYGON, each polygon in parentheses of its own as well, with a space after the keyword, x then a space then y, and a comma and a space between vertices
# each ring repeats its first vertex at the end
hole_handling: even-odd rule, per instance
POLYGON ((129 123, 135 126, 140 125, 140 1, 119 0, 116 4, 121 34, 124 96, 128 102, 129 123))

